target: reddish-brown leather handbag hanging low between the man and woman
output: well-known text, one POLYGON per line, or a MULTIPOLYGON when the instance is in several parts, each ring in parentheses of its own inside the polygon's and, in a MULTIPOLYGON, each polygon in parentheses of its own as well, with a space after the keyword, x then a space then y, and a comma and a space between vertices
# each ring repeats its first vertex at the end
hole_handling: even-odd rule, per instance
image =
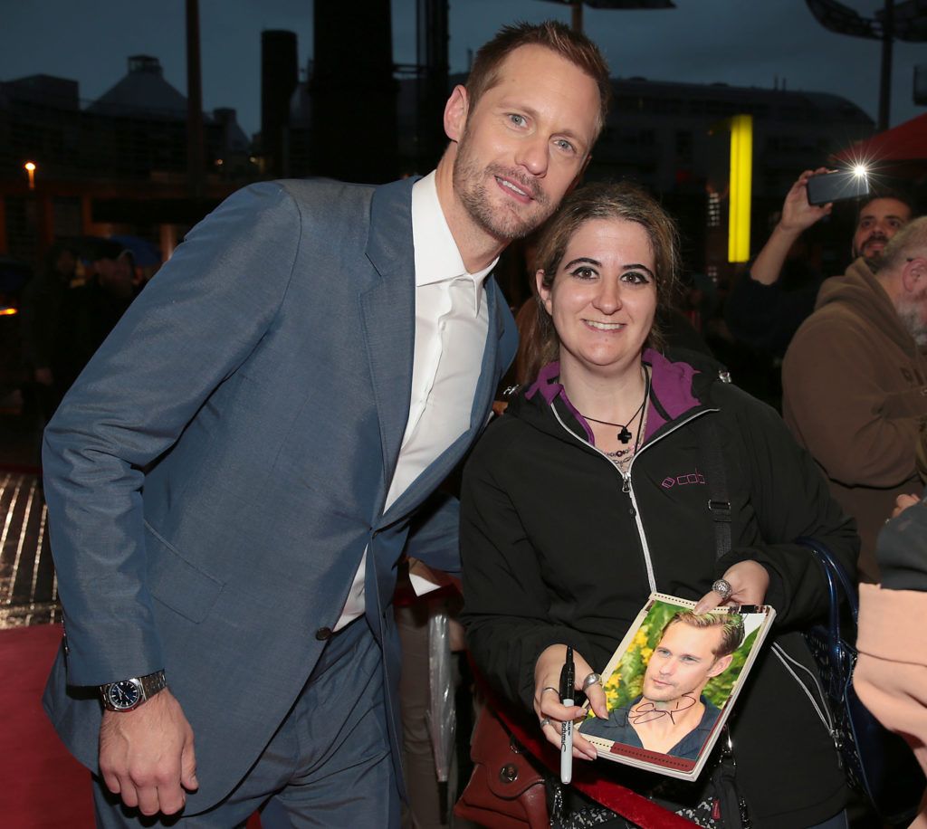
POLYGON ((454 814, 492 829, 549 829, 544 774, 489 707, 476 721, 470 756, 473 774, 454 814))

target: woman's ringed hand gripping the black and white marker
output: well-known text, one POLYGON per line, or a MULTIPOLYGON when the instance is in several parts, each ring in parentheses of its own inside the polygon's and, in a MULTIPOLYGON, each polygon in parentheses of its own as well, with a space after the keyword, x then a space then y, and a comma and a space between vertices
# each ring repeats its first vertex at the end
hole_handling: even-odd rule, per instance
MULTIPOLYGON (((583 716, 584 711, 578 705, 560 704, 560 672, 566 661, 566 646, 552 645, 545 648, 534 666, 534 711, 538 720, 543 722, 541 731, 547 741, 560 747, 561 725, 583 716)), ((573 664, 576 666, 576 683, 574 690, 582 690, 583 680, 592 669, 589 662, 573 651, 573 664)), ((602 683, 595 683, 586 688, 586 697, 597 717, 607 719, 608 708, 605 705, 605 692, 602 683)), ((573 733, 573 757, 580 760, 595 760, 596 751, 590 742, 577 732, 573 733)))

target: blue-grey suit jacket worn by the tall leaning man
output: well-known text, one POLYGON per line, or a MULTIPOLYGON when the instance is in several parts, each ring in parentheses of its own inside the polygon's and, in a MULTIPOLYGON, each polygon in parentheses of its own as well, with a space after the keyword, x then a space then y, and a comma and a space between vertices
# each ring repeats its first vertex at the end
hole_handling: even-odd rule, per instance
POLYGON ((68 645, 46 710, 95 770, 100 704, 85 686, 164 668, 197 740, 187 813, 224 797, 283 721, 365 548, 399 769, 397 561, 408 540, 457 569, 455 504, 428 496, 485 425, 516 340, 490 279, 469 431, 384 513, 412 384, 412 184, 265 182, 230 197, 45 431, 68 645))

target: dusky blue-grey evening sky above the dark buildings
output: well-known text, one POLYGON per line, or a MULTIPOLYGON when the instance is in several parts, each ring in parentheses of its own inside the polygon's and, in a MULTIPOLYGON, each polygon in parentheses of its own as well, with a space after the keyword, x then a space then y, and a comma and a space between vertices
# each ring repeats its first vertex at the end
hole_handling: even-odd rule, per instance
MULTIPOLYGON (((585 9, 585 29, 613 75, 726 82, 841 94, 875 119, 880 44, 824 30, 804 0, 676 0, 669 11, 585 9)), ((844 0, 870 16, 878 0, 844 0)), ((362 9, 363 0, 358 0, 362 9)), ((235 107, 246 132, 260 127, 260 31, 298 34, 299 62, 312 48, 312 0, 200 0, 203 103, 235 107)), ((412 63, 414 0, 393 0, 394 60, 412 63)), ((569 9, 540 0, 451 0, 451 70, 502 24, 569 20, 569 9)), ((0 80, 45 73, 80 82, 85 101, 126 72, 126 57, 159 57, 165 78, 185 94, 184 0, 0 0, 0 80)), ((344 37, 345 58, 352 44, 344 37)), ((895 43, 891 123, 927 111, 911 102, 925 44, 895 43)), ((362 124, 355 125, 360 127, 362 124)))

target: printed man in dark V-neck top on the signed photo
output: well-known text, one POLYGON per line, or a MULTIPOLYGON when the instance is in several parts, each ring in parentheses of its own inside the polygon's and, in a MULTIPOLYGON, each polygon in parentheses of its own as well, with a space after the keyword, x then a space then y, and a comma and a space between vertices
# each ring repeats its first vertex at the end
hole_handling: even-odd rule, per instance
POLYGON ((702 692, 728 670, 741 643, 741 616, 680 611, 647 662, 641 696, 612 709, 607 720, 583 722, 582 734, 695 760, 721 713, 702 692))

